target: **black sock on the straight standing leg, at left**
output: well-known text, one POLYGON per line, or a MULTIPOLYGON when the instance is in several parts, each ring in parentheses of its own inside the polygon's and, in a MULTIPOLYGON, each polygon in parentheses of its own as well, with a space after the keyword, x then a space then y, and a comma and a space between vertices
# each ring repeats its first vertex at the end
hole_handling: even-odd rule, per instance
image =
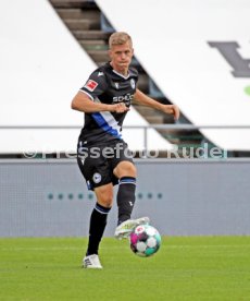
POLYGON ((105 208, 97 203, 92 210, 89 226, 88 249, 86 253, 87 256, 98 254, 99 244, 105 229, 110 209, 111 208, 105 208))

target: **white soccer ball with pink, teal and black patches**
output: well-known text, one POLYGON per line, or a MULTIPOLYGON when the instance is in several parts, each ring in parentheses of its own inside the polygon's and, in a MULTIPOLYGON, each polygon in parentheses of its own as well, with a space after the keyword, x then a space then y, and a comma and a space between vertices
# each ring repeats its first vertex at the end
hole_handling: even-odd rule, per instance
POLYGON ((150 225, 137 226, 129 236, 132 251, 141 257, 148 257, 158 252, 161 245, 161 236, 150 225))

